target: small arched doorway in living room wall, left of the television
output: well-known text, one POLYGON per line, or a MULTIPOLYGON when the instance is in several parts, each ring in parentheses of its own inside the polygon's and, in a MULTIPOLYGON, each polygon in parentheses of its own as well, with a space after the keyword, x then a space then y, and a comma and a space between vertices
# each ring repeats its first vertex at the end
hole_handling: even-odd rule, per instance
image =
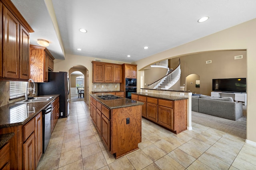
POLYGON ((189 74, 186 76, 186 91, 200 94, 200 76, 198 74, 189 74))

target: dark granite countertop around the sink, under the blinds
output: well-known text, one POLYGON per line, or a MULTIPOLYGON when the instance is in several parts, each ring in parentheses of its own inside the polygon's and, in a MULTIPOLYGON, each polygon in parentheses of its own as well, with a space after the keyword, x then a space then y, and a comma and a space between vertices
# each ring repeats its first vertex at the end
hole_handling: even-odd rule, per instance
POLYGON ((47 102, 12 103, 0 107, 0 128, 24 125, 60 95, 40 95, 40 97, 42 96, 54 96, 54 98, 47 102))

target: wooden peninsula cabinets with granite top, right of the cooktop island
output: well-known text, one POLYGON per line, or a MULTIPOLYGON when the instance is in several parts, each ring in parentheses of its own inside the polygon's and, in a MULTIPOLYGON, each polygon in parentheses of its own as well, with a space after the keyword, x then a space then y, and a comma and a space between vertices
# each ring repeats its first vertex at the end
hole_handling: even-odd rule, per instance
POLYGON ((178 96, 132 93, 132 100, 144 97, 146 114, 142 117, 178 134, 187 128, 187 100, 178 96), (145 99, 146 98, 146 99, 145 99))

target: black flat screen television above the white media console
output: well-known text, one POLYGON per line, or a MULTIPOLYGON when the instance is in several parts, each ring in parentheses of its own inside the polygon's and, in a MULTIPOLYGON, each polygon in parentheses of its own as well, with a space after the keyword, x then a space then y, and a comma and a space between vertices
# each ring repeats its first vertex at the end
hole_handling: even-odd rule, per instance
POLYGON ((246 92, 246 78, 212 79, 212 91, 246 92))

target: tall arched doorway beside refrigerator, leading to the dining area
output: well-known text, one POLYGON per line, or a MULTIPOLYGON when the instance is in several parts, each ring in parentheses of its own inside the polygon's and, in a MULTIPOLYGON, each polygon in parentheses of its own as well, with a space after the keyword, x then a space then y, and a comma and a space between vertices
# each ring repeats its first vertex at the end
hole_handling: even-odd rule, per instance
POLYGON ((70 99, 71 102, 85 101, 88 104, 89 101, 89 83, 88 76, 89 71, 85 66, 74 65, 69 69, 70 75, 70 99), (84 88, 84 97, 78 98, 77 88, 84 88), (73 100, 72 100, 73 99, 73 100))

